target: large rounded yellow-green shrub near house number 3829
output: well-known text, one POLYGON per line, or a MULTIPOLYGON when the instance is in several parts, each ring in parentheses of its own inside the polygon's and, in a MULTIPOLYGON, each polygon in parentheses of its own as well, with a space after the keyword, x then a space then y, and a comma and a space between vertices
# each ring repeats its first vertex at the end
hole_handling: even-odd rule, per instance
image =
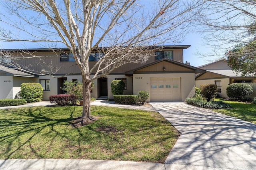
POLYGON ((22 83, 20 85, 20 96, 28 103, 41 101, 43 98, 43 87, 40 83, 22 83))

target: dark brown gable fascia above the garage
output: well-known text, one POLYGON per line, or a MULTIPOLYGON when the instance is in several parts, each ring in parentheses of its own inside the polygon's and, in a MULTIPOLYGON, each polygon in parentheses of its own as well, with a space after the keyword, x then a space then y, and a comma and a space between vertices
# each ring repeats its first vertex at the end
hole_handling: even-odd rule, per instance
POLYGON ((132 74, 134 73, 134 71, 137 71, 137 70, 139 70, 139 69, 148 67, 148 66, 150 66, 150 65, 154 65, 154 64, 156 64, 156 63, 160 63, 160 62, 162 62, 162 61, 167 61, 167 62, 169 62, 169 63, 173 63, 173 64, 176 64, 176 65, 179 65, 179 66, 182 66, 182 67, 186 67, 186 68, 192 69, 192 70, 195 71, 195 73, 205 73, 205 72, 206 72, 206 70, 204 70, 204 69, 200 69, 200 68, 197 68, 197 67, 194 67, 194 66, 191 66, 191 65, 187 65, 187 64, 184 64, 184 63, 181 63, 181 62, 179 62, 179 61, 172 60, 172 59, 163 58, 163 59, 159 59, 159 60, 157 60, 157 61, 154 61, 154 62, 152 62, 152 63, 149 63, 149 64, 147 64, 147 65, 143 65, 143 66, 141 66, 141 67, 138 67, 138 68, 136 68, 136 69, 133 69, 133 70, 130 70, 130 71, 126 71, 126 72, 125 72, 125 75, 132 75, 132 74))

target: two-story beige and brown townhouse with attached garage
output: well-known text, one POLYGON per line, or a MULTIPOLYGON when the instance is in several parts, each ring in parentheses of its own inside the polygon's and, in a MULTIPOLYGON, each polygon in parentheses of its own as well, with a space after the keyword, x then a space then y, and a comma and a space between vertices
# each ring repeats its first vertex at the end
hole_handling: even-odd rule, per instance
MULTIPOLYGON (((138 91, 142 90, 150 92, 148 101, 184 101, 187 97, 194 95, 195 74, 205 72, 203 69, 183 63, 183 50, 188 47, 190 45, 166 45, 160 50, 159 47, 155 47, 156 50, 152 51, 146 63, 126 63, 106 77, 96 79, 91 96, 113 99, 110 84, 115 79, 121 79, 126 84, 125 95, 138 94, 138 91)), ((5 50, 12 51, 13 56, 18 56, 16 57, 18 65, 29 71, 30 75, 35 76, 34 82, 41 83, 44 89, 43 100, 49 100, 50 95, 62 94, 60 87, 65 80, 82 81, 81 71, 68 49, 62 49, 62 51, 53 49, 5 50), (30 57, 31 54, 36 57, 30 57), (51 74, 55 78, 42 74, 51 74)), ((101 55, 104 53, 95 52, 90 56, 90 68, 95 65, 97 57, 101 55)), ((7 76, 8 72, 2 69, 0 71, 1 77, 7 76)), ((27 79, 24 78, 24 81, 27 82, 27 79)), ((2 80, 0 85, 2 85, 2 80)), ((14 97, 17 92, 16 88, 12 90, 13 94, 8 96, 14 97)), ((0 97, 1 99, 7 98, 6 95, 0 95, 0 97)))

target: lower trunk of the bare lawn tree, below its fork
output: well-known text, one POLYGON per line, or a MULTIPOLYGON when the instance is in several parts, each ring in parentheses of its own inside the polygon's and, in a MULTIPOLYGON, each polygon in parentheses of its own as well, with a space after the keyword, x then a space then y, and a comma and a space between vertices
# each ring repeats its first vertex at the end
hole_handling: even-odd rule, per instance
POLYGON ((87 125, 96 120, 94 117, 91 116, 91 111, 90 111, 90 101, 91 101, 90 85, 91 85, 91 82, 88 82, 87 81, 88 79, 86 79, 86 77, 82 77, 82 83, 83 83, 83 113, 82 113, 82 117, 81 117, 82 125, 87 125))

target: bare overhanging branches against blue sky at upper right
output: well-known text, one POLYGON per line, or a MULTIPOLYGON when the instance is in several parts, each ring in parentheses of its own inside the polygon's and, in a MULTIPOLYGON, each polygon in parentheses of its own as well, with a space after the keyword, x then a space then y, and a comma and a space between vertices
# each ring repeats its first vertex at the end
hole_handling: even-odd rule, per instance
POLYGON ((199 18, 198 28, 205 35, 205 45, 213 49, 212 53, 201 55, 223 58, 236 45, 244 45, 255 38, 256 1, 207 0, 199 18))

